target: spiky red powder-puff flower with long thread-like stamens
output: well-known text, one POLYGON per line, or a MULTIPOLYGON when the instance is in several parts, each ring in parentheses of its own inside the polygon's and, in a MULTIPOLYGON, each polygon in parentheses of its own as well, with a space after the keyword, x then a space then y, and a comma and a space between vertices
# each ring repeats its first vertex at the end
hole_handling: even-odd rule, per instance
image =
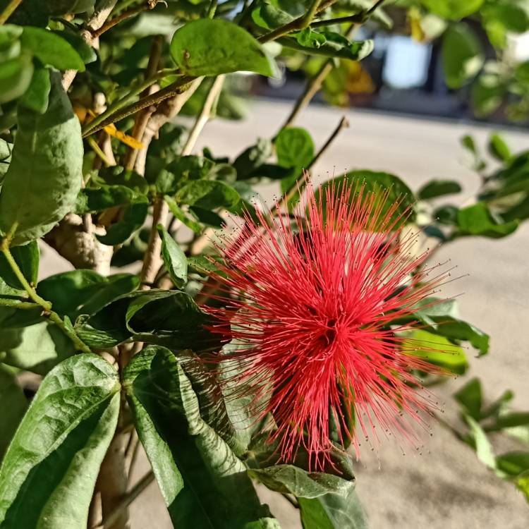
POLYGON ((333 186, 320 196, 309 188, 293 223, 246 214, 217 247, 214 297, 224 308, 207 309, 211 330, 238 343, 229 354, 244 369, 231 379, 266 397, 258 417, 272 414, 281 458, 303 446, 316 468, 329 459, 332 429, 358 451, 360 431, 406 434, 403 412, 418 418, 430 408, 413 370, 439 369, 412 355, 407 327, 390 322, 409 317, 445 277, 413 274, 427 254, 411 255, 415 236, 399 232, 399 201, 333 186))

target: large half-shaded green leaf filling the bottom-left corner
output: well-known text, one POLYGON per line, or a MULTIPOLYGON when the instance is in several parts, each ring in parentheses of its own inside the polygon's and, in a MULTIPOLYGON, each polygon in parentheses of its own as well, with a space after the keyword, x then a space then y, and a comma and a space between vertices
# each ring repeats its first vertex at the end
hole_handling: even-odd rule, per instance
POLYGON ((0 468, 0 526, 86 527, 99 466, 118 420, 117 371, 69 358, 42 382, 0 468))

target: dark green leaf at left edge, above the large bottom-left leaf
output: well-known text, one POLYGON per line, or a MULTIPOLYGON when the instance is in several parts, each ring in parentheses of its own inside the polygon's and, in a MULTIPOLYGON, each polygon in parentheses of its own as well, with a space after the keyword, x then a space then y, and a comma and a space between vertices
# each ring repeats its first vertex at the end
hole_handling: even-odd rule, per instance
POLYGON ((0 364, 0 403, 2 406, 2 427, 0 429, 0 461, 8 444, 22 420, 28 399, 17 382, 16 375, 0 364))

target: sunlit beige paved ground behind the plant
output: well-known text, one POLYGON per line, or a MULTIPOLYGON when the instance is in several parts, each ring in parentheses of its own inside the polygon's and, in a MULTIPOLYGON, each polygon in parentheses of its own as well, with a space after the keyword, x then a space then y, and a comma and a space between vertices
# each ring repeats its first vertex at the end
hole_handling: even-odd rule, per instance
MULTIPOLYGON (((250 145, 257 136, 273 135, 288 105, 257 102, 243 125, 209 123, 197 146, 212 148, 214 154, 233 155, 250 145)), ((418 188, 430 178, 461 182, 463 203, 478 186, 478 178, 462 164, 458 138, 472 133, 483 144, 487 129, 466 124, 416 121, 413 119, 347 111, 351 128, 343 131, 315 167, 315 174, 339 174, 346 169, 391 171, 418 188)), ((310 108, 298 124, 310 130, 316 145, 322 145, 341 118, 342 111, 310 108)), ((507 133, 513 147, 529 148, 529 135, 507 133)), ((272 195, 267 186, 264 195, 272 195)), ((529 408, 529 225, 502 241, 476 239, 454 243, 442 250, 468 277, 445 288, 446 295, 463 293, 461 315, 492 336, 490 355, 472 361, 471 376, 482 378, 488 395, 499 396, 504 389, 516 392, 515 405, 529 408)), ((51 257, 51 256, 50 256, 51 257)), ((49 261, 58 271, 63 265, 49 261)), ((455 420, 450 394, 464 379, 436 390, 446 401, 445 418, 455 420)), ((385 442, 377 453, 362 454, 357 464, 358 493, 365 505, 372 529, 526 529, 529 506, 509 484, 491 475, 473 452, 456 442, 439 425, 425 435, 422 455, 403 456, 399 446, 385 442)), ((138 473, 141 470, 138 469, 138 473)), ((284 529, 297 529, 296 517, 288 504, 267 501, 284 529)), ((133 506, 134 529, 169 529, 171 523, 152 485, 133 506), (154 511, 154 512, 153 512, 154 511), (154 521, 155 520, 155 521, 154 521)), ((343 528, 347 529, 347 528, 343 528)))

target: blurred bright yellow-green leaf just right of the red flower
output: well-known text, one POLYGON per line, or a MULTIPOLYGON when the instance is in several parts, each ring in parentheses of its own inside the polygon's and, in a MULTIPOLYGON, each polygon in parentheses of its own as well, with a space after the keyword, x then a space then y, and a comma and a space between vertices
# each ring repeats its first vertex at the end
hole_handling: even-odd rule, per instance
POLYGON ((456 346, 444 336, 427 331, 418 330, 408 334, 408 339, 403 344, 403 351, 458 375, 463 375, 468 369, 463 348, 456 346))

